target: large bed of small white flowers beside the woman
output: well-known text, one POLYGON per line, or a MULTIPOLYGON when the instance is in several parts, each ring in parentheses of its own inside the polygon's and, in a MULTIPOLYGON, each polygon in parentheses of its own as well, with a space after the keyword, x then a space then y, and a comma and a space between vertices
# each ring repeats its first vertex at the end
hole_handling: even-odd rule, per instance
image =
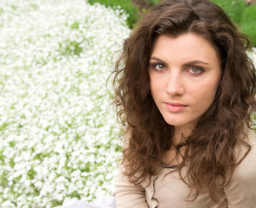
POLYGON ((126 18, 84 0, 1 1, 1 207, 112 194, 120 127, 105 83, 126 18))

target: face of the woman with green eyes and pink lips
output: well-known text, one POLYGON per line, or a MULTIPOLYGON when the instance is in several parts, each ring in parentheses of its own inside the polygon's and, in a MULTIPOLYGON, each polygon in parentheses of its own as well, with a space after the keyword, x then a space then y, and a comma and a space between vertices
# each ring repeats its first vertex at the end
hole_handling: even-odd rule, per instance
POLYGON ((219 55, 202 36, 161 35, 153 44, 149 75, 152 97, 165 121, 191 131, 214 100, 221 76, 219 55))

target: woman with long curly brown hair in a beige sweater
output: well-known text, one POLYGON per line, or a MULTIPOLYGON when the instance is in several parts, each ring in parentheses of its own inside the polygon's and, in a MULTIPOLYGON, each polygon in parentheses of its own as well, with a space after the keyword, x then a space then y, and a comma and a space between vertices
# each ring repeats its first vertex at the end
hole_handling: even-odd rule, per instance
POLYGON ((164 0, 125 40, 117 207, 256 207, 255 67, 208 0, 164 0))

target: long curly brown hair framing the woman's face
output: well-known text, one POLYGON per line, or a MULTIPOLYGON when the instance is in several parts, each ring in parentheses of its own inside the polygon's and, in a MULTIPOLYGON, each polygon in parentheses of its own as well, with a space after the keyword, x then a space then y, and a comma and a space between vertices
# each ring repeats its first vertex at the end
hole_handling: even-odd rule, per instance
POLYGON ((256 74, 246 55, 248 38, 208 0, 162 1, 125 40, 113 72, 114 103, 129 134, 123 165, 130 181, 139 184, 158 174, 164 153, 173 146, 174 128, 165 122, 150 92, 149 60, 157 36, 185 33, 213 43, 221 57, 222 77, 211 107, 190 136, 175 146, 182 157, 175 171, 189 164, 187 175, 180 173, 180 177, 196 191, 195 198, 206 185, 212 200, 218 202, 215 192, 228 185, 242 160, 237 161, 235 149, 244 146, 248 153, 251 148, 245 139, 246 128, 253 126, 256 74))

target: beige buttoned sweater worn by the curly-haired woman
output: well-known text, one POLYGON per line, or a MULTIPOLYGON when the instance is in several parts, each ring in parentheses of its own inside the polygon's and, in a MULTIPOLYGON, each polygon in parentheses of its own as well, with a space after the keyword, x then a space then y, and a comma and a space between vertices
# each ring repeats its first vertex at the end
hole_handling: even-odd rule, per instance
MULTIPOLYGON (((228 208, 256 207, 256 135, 249 133, 252 150, 236 167, 231 183, 218 193, 219 198, 228 202, 228 208)), ((182 170, 185 173, 185 168, 182 170)), ((173 172, 165 177, 170 169, 152 179, 151 184, 131 184, 120 169, 116 184, 117 208, 206 208, 210 203, 208 192, 199 194, 192 203, 188 202, 190 189, 179 179, 179 173, 173 172)), ((225 205, 212 204, 211 208, 226 208, 225 205)))

